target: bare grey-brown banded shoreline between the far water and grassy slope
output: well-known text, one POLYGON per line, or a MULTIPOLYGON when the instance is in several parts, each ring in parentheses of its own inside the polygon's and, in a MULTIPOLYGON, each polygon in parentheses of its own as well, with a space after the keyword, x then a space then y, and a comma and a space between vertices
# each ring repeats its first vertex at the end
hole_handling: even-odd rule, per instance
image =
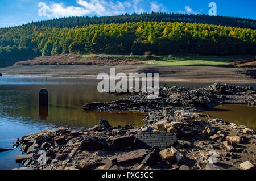
POLYGON ((97 78, 99 73, 159 72, 161 82, 256 83, 256 68, 225 68, 217 66, 151 66, 151 65, 34 65, 0 68, 3 76, 97 78))

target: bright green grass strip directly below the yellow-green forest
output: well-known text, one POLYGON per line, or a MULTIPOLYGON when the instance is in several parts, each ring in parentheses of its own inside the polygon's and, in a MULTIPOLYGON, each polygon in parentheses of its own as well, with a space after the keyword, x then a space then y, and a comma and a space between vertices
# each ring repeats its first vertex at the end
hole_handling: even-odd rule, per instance
POLYGON ((253 56, 145 56, 87 54, 81 58, 114 57, 118 60, 133 59, 145 65, 232 65, 233 61, 252 59, 253 56))

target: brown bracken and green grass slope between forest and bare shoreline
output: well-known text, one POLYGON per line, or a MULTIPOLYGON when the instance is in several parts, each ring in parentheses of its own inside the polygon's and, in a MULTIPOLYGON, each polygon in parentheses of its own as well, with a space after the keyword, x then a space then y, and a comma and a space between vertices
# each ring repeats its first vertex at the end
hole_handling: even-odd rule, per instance
POLYGON ((201 65, 255 67, 250 56, 130 56, 106 54, 60 54, 36 57, 15 65, 201 65))

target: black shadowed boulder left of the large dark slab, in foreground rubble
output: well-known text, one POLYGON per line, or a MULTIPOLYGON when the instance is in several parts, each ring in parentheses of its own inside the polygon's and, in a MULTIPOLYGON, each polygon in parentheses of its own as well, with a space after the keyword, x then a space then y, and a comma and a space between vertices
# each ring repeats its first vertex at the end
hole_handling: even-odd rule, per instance
POLYGON ((102 150, 106 147, 106 141, 97 137, 85 137, 80 144, 80 149, 85 151, 102 150))

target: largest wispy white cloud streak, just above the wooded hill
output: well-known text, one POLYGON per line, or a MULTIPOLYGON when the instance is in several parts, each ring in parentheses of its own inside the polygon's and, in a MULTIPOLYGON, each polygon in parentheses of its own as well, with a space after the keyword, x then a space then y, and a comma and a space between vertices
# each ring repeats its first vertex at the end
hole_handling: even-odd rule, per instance
MULTIPOLYGON (((148 5, 148 2, 144 0, 125 2, 114 0, 76 0, 76 2, 77 6, 64 6, 63 3, 51 3, 47 6, 45 3, 40 2, 39 7, 46 11, 45 15, 48 18, 60 18, 84 15, 111 16, 133 12, 141 14, 146 11, 144 7, 148 5)), ((150 2, 150 5, 150 11, 164 10, 164 6, 156 1, 150 2)))

